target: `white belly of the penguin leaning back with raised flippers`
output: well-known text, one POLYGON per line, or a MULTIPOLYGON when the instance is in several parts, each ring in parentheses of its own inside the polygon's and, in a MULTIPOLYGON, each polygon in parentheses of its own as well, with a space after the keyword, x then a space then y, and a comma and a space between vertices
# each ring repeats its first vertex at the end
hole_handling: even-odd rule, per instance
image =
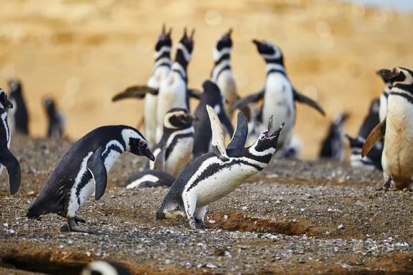
POLYGON ((256 173, 258 173, 256 168, 245 164, 235 164, 203 179, 189 192, 197 198, 196 208, 200 208, 228 195, 243 184, 245 179, 256 173))

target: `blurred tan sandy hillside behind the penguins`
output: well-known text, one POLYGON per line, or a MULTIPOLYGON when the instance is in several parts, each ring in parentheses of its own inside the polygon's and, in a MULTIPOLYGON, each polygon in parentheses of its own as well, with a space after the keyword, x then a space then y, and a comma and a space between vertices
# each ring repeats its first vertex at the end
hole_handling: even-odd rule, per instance
MULTIPOLYGON (((54 96, 72 140, 104 124, 136 126, 143 102, 111 98, 128 85, 145 84, 162 23, 173 27, 173 46, 184 26, 196 28, 189 86, 209 78, 212 47, 233 28, 232 65, 239 93, 264 85, 265 65, 251 39, 284 51, 297 89, 328 114, 298 106, 296 135, 304 158, 316 157, 332 117, 351 113, 355 135, 383 83, 377 69, 413 67, 413 15, 357 3, 313 0, 13 0, 0 8, 0 87, 23 80, 32 136, 46 132, 42 100, 54 96)), ((174 54, 173 54, 174 56, 174 54)), ((196 107, 196 102, 192 102, 196 107)))

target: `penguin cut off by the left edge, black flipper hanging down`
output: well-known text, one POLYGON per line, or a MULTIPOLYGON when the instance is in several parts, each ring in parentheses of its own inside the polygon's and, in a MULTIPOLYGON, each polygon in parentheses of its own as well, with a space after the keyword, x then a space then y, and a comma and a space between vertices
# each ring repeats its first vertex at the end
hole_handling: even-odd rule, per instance
POLYGON ((13 104, 8 100, 6 91, 0 89, 0 175, 6 167, 9 176, 10 193, 15 194, 20 188, 21 169, 19 161, 10 152, 11 133, 7 121, 7 110, 12 109, 13 104))

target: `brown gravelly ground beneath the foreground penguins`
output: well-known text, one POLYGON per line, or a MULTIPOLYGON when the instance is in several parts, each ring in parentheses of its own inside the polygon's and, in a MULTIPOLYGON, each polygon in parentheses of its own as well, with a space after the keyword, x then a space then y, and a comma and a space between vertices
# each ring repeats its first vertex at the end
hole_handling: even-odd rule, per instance
POLYGON ((184 219, 154 219, 166 188, 116 187, 145 161, 125 153, 105 195, 78 213, 96 234, 59 232, 65 221, 56 215, 28 221, 26 208, 69 146, 14 138, 23 181, 10 196, 1 175, 0 274, 78 274, 94 259, 124 263, 134 274, 412 272, 412 195, 377 192, 380 173, 346 163, 274 160, 213 203, 207 230, 194 231, 184 219))

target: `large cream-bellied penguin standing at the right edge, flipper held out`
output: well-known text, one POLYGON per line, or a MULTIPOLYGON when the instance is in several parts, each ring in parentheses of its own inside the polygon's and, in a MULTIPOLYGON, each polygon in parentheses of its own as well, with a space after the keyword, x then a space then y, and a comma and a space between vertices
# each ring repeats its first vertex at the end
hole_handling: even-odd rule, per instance
POLYGON ((413 177, 413 72, 395 67, 381 69, 379 74, 392 84, 388 113, 367 137, 361 157, 385 137, 381 158, 383 189, 388 190, 392 182, 397 189, 404 189, 410 186, 413 177))

